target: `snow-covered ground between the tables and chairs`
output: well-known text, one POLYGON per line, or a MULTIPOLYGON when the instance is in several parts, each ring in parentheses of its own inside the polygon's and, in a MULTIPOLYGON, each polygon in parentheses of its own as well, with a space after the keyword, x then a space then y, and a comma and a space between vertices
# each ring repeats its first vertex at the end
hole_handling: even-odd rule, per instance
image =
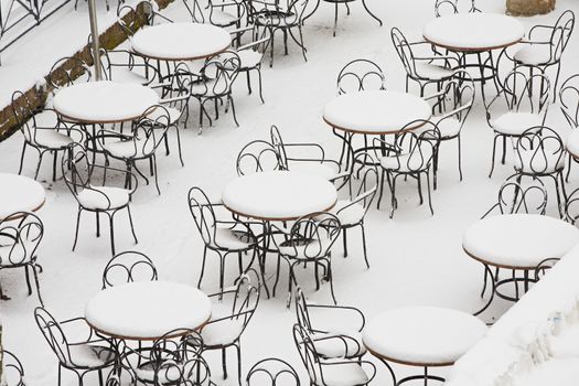
MULTIPOLYGON (((235 128, 230 115, 226 115, 215 127, 206 129, 203 136, 197 136, 194 129, 184 130, 182 142, 185 168, 181 168, 176 154, 159 158, 162 195, 159 197, 153 186, 139 189, 133 197, 132 213, 140 243, 132 245, 125 218, 119 216, 116 237, 118 250, 146 253, 153 259, 164 280, 196 283, 202 243, 186 208, 189 189, 199 185, 218 195, 224 184, 235 176, 235 159, 242 146, 253 139, 267 138, 272 124, 282 130, 287 141, 320 141, 329 149, 329 153, 336 153, 340 142, 331 135, 321 115, 324 104, 335 96, 339 69, 350 60, 367 57, 383 66, 389 89, 401 90, 404 73, 392 47, 389 30, 398 26, 409 36, 420 36, 422 25, 433 15, 432 2, 368 1, 368 6, 384 20, 383 28, 377 26, 361 4, 354 3, 351 17, 345 17, 345 11, 341 12, 335 39, 332 37, 333 9, 322 3, 304 28, 308 63, 303 62, 296 46, 291 47, 289 56, 283 57, 280 44, 277 44, 275 67, 264 68, 265 105, 256 95, 248 96, 244 82, 239 82, 235 95, 239 128, 235 128)), ((503 2, 487 0, 480 2, 480 8, 483 11, 503 12, 503 2)), ((559 0, 557 6, 556 12, 547 17, 522 21, 528 28, 539 21, 553 22, 567 8, 579 11, 579 6, 572 0, 559 0)), ((184 18, 181 4, 170 7, 168 13, 184 18)), ((57 20, 52 23, 58 24, 57 20)), ((69 31, 71 35, 78 37, 78 31, 84 30, 77 30, 76 26, 69 26, 69 31)), ((79 41, 84 40, 81 37, 79 41)), ((569 76, 579 64, 576 42, 575 36, 565 58, 562 78, 569 76)), ((39 55, 45 52, 40 51, 39 55)), ((25 72, 23 64, 13 63, 12 66, 22 66, 22 72, 25 72)), ((7 69, 0 67, 0 76, 7 69)), ((193 122, 196 119, 195 107, 192 112, 193 122)), ((562 135, 568 132, 557 105, 551 106, 547 124, 562 135)), ((21 143, 20 135, 0 143, 0 171, 18 170, 21 143)), ((463 130, 463 182, 458 179, 454 144, 446 144, 441 151, 439 189, 433 193, 435 216, 430 216, 427 206, 418 206, 415 185, 403 183, 395 219, 388 218, 388 195, 383 210, 378 212, 372 208, 366 217, 369 270, 365 269, 358 238, 350 243, 351 256, 347 259, 342 259, 341 248, 336 246, 334 285, 341 304, 358 307, 367 318, 403 305, 433 304, 472 312, 482 304, 479 299, 482 267, 464 255, 461 238, 467 226, 495 202, 501 182, 512 172, 511 167, 500 167, 493 178, 487 179, 491 147, 492 131, 486 125, 479 99, 463 130)), ((29 157, 24 174, 33 175, 35 159, 31 152, 29 157)), ((43 165, 43 179, 51 175, 50 167, 50 162, 43 165)), ((576 187, 578 182, 572 176, 568 190, 576 187)), ((49 196, 40 212, 46 230, 39 250, 39 262, 44 267, 41 287, 45 305, 57 319, 82 315, 87 300, 100 289, 103 268, 110 258, 108 237, 97 239, 94 217, 85 216, 77 250, 72 253, 76 202, 62 180, 43 184, 49 196)), ((553 190, 550 196, 554 196, 553 190)), ((549 203, 549 210, 555 214, 554 202, 549 203)), ((357 237, 357 234, 351 232, 349 236, 357 237)), ((203 287, 206 292, 216 290, 217 266, 216 259, 208 259, 203 287)), ((271 271, 272 259, 269 267, 271 271)), ((235 264, 232 262, 227 269, 230 281, 236 272, 235 264)), ((33 321, 36 298, 26 298, 23 272, 1 272, 0 279, 7 293, 13 297, 11 301, 2 302, 4 347, 22 360, 28 385, 54 385, 56 358, 33 321)), ((309 283, 310 279, 310 275, 303 275, 301 281, 309 283)), ((285 279, 281 286, 285 288, 285 279)), ((264 298, 243 337, 244 372, 262 357, 278 356, 293 363, 305 382, 307 375, 290 332, 294 311, 286 309, 286 294, 280 292, 282 294, 277 299, 264 298)), ((331 301, 328 286, 314 292, 310 283, 305 293, 318 302, 331 301)), ((498 317, 507 307, 507 303, 496 301, 490 314, 498 317)), ((228 380, 221 378, 218 356, 211 358, 217 384, 235 384, 234 357, 233 353, 228 356, 233 375, 228 380)), ((369 355, 368 358, 373 360, 369 355)), ((377 361, 376 365, 378 374, 375 384, 389 384, 386 368, 377 361)), ((404 374, 405 369, 396 369, 404 374)), ((75 382, 72 375, 65 373, 65 385, 74 385, 75 382)), ((89 377, 88 384, 96 384, 96 378, 89 377)))

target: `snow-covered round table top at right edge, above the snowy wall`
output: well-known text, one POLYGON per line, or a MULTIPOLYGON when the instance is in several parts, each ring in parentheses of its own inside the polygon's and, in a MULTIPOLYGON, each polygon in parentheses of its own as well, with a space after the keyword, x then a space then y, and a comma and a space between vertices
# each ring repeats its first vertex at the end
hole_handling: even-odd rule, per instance
POLYGON ((579 243, 579 229, 539 214, 503 214, 472 224, 462 238, 464 251, 495 267, 534 269, 560 258, 579 243))

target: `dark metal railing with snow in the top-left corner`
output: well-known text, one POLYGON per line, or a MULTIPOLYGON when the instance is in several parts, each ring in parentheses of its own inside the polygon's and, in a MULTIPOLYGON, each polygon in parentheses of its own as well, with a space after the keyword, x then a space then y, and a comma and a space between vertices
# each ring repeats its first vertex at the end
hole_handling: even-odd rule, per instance
POLYGON ((71 0, 0 0, 0 54, 71 0))

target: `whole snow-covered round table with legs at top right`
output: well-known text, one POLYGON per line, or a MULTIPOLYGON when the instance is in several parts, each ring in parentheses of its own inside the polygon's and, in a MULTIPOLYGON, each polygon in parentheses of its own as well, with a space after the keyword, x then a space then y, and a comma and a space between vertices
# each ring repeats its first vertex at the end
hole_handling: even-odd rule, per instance
POLYGON ((497 13, 458 13, 433 19, 422 30, 422 36, 432 45, 460 54, 462 68, 475 67, 481 82, 482 97, 486 81, 496 81, 496 68, 492 52, 518 43, 525 35, 525 28, 515 18, 497 13), (483 60, 486 53, 487 57, 483 60), (475 63, 467 57, 475 55, 475 63))

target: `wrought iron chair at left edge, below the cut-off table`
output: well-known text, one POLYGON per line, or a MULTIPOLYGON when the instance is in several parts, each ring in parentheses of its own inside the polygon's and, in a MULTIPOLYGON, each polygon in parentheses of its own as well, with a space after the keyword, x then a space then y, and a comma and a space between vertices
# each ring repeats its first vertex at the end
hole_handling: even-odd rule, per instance
MULTIPOLYGON (((36 262, 36 249, 43 237, 44 225, 32 213, 17 212, 8 219, 0 221, 0 271, 24 268, 29 296, 32 294, 32 286, 30 285, 30 271, 32 271, 41 304, 43 302, 40 294, 39 271, 42 272, 42 266, 36 262)), ((2 300, 10 299, 2 292, 1 283, 0 298, 2 300)))

